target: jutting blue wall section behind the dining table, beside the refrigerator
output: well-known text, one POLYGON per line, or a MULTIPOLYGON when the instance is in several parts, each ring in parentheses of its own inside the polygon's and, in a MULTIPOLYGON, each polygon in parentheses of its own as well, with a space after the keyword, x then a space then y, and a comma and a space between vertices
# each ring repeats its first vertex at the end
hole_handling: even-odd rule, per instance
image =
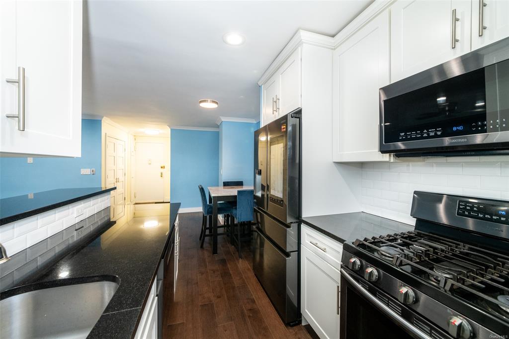
POLYGON ((259 123, 223 121, 219 125, 219 182, 242 180, 253 184, 254 131, 259 123))

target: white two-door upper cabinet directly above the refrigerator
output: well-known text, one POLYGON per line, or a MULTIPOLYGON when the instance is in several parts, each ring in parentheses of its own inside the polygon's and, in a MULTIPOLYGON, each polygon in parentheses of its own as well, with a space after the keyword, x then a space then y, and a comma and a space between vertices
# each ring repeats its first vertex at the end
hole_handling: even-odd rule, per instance
POLYGON ((301 106, 300 53, 298 47, 263 83, 262 126, 301 106))

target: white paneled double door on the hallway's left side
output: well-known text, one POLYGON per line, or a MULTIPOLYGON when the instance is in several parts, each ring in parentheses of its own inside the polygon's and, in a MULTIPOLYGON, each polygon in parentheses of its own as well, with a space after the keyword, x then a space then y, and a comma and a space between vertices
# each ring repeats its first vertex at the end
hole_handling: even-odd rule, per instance
POLYGON ((111 219, 117 220, 124 215, 125 206, 125 142, 106 136, 106 178, 107 188, 111 191, 111 219))

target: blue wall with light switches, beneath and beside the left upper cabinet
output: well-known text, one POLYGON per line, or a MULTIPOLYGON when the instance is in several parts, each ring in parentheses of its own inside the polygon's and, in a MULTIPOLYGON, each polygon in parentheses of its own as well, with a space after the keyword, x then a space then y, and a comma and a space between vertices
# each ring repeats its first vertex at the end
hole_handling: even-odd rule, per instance
POLYGON ((81 120, 80 158, 0 158, 0 197, 56 188, 101 186, 101 121, 81 120), (80 175, 95 168, 95 175, 80 175))

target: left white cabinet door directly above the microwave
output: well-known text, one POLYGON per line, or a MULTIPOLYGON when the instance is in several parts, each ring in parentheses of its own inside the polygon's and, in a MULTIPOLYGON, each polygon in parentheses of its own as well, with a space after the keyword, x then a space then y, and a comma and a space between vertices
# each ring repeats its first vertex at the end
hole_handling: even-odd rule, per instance
POLYGON ((399 0, 391 11, 391 81, 470 51, 470 0, 399 0), (453 10, 456 9, 455 48, 453 10))

